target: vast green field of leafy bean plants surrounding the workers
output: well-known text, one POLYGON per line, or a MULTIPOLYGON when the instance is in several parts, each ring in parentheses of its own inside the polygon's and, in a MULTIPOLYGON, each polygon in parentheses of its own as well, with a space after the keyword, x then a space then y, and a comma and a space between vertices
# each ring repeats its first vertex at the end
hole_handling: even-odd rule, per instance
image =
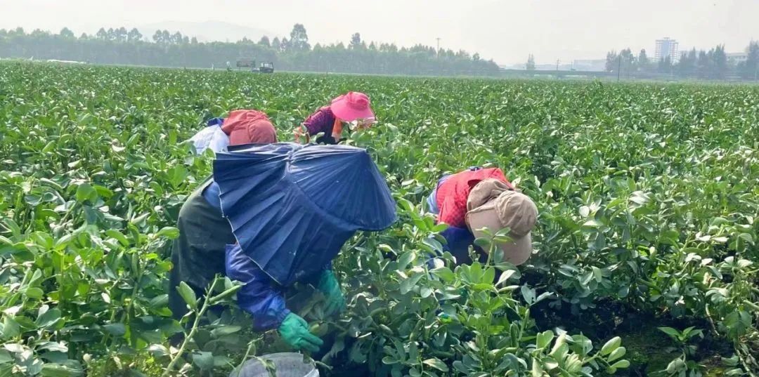
POLYGON ((182 141, 234 108, 262 109, 291 140, 348 90, 379 118, 348 143, 375 158, 400 220, 335 261, 340 318, 318 294, 288 297, 326 340, 310 355, 322 375, 759 373, 757 86, 5 62, 0 375, 221 376, 282 350, 230 298, 171 318, 173 227, 213 161, 182 141), (537 203, 527 265, 427 264, 442 237, 424 197, 474 165, 537 203), (180 350, 181 331, 194 336, 180 350))

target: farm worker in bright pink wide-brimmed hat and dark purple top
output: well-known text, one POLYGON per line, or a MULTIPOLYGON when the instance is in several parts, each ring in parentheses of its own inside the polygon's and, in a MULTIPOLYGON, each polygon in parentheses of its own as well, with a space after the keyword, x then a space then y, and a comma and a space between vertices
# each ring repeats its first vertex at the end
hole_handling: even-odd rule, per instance
POLYGON ((375 121, 369 97, 364 93, 348 92, 332 99, 329 106, 319 108, 294 130, 295 142, 301 136, 308 137, 323 133, 317 143, 337 144, 341 140, 343 123, 356 122, 357 129, 370 127, 375 121))

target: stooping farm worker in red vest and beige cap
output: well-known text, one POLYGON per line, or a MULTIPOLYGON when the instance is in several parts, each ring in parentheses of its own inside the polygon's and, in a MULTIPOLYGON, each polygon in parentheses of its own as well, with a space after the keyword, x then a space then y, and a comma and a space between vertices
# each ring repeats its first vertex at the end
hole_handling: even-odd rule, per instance
MULTIPOLYGON (((427 199, 437 221, 449 225, 442 236, 457 264, 469 263, 469 246, 484 237, 483 228, 496 232, 509 228, 512 241, 499 243, 505 262, 521 265, 532 253, 531 231, 537 221, 537 206, 516 190, 499 168, 470 168, 443 176, 427 199)), ((480 259, 487 259, 475 247, 480 259)), ((502 261, 496 261, 502 262, 502 261)))

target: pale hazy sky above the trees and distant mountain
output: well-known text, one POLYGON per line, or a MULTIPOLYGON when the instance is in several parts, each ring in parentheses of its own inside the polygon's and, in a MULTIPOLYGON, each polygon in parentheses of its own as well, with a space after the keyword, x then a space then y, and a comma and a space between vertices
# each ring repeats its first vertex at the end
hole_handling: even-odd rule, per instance
MULTIPOLYGON (((759 39, 759 0, 0 0, 0 27, 93 33, 164 21, 221 20, 286 35, 305 25, 310 42, 417 42, 480 52, 499 64, 604 58, 609 49, 647 49, 663 36, 680 48, 759 39)), ((172 30, 173 31, 173 30, 172 30)), ((182 31, 182 30, 180 30, 182 31)))

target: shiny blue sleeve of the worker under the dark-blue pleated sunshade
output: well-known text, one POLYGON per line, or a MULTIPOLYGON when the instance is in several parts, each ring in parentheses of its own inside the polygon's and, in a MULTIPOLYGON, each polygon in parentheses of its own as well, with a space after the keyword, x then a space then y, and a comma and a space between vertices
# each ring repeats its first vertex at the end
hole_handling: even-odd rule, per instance
POLYGON ((244 286, 238 291, 238 306, 253 316, 254 331, 278 328, 290 313, 282 288, 246 256, 240 245, 227 245, 225 269, 228 278, 244 286))

